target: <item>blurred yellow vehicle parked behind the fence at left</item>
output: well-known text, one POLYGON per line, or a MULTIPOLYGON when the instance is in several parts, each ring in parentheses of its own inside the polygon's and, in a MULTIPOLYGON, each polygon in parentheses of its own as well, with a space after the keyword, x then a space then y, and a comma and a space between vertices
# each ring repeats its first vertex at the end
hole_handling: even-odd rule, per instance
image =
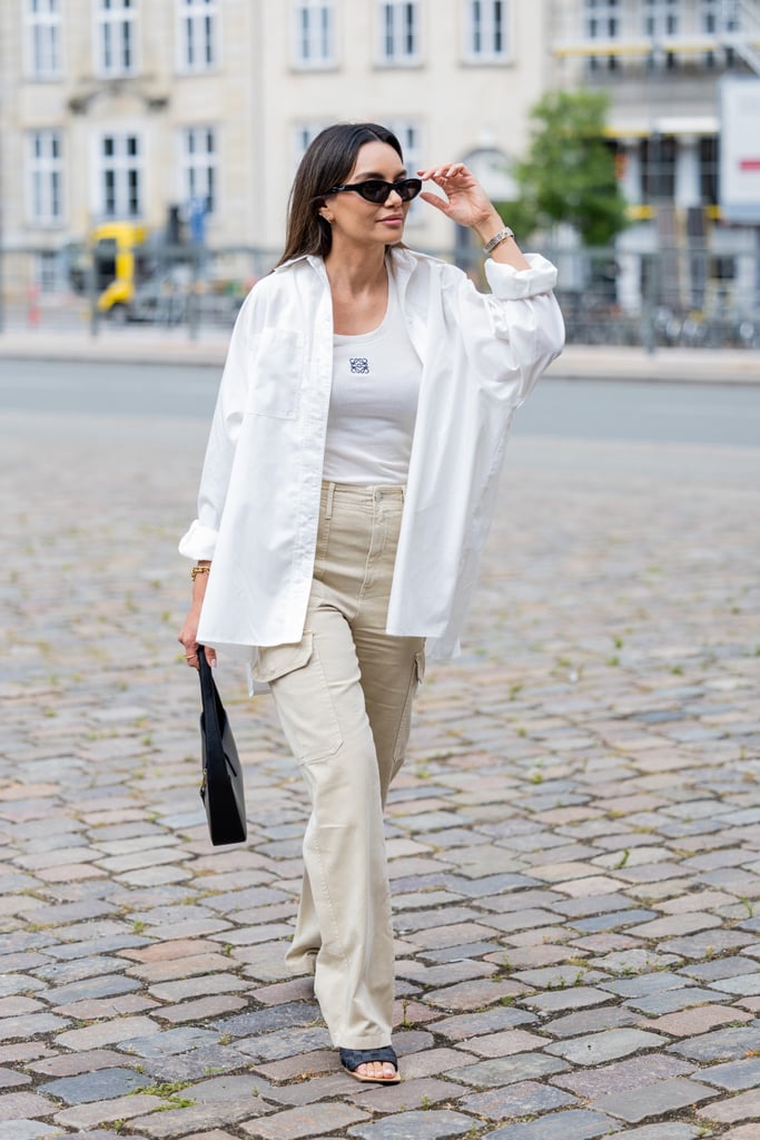
POLYGON ((149 276, 147 226, 106 222, 90 234, 98 311, 114 320, 130 316, 138 286, 149 276))

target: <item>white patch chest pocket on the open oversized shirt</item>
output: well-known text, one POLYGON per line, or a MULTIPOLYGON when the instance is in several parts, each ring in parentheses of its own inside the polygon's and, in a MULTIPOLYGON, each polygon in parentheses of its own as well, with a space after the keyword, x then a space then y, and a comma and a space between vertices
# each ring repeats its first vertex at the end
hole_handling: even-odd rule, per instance
POLYGON ((303 333, 264 328, 252 339, 252 374, 245 414, 295 420, 303 382, 303 333))

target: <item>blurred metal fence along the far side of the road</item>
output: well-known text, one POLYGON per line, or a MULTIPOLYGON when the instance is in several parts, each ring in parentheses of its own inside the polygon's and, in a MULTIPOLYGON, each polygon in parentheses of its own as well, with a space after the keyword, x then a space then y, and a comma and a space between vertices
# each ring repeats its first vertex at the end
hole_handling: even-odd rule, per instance
MULTIPOLYGON (((0 250, 0 331, 88 332, 115 326, 228 332, 251 286, 278 253, 252 247, 154 245, 133 250, 126 288, 104 301, 114 261, 91 250, 0 250), (121 298, 121 299, 120 299, 121 298)), ((432 251, 484 287, 480 252, 432 251)), ((760 348, 760 254, 709 250, 556 249, 557 296, 569 343, 760 348)), ((112 291, 113 292, 113 291, 112 291)))

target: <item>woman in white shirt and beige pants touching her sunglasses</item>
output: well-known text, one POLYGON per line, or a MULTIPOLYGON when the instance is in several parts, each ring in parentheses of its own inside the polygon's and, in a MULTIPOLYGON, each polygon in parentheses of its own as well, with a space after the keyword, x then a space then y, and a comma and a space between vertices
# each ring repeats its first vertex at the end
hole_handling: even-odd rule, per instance
POLYGON ((313 971, 343 1067, 384 1084, 400 1080, 385 797, 425 646, 457 645, 509 421, 563 343, 554 267, 520 252, 465 165, 417 174, 373 123, 307 150, 285 253, 232 334, 180 543, 196 560, 188 665, 198 644, 255 648, 309 790, 287 961, 313 971), (400 244, 418 194, 475 230, 492 294, 400 244))

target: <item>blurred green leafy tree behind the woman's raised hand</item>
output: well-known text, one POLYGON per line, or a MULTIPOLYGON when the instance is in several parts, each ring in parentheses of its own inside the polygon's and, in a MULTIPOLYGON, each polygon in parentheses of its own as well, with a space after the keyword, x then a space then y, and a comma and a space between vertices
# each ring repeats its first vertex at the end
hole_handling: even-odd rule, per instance
POLYGON ((513 170, 520 197, 501 206, 515 230, 570 222, 594 246, 624 229, 626 199, 604 135, 607 107, 604 92, 582 90, 549 91, 533 107, 528 157, 513 170))

